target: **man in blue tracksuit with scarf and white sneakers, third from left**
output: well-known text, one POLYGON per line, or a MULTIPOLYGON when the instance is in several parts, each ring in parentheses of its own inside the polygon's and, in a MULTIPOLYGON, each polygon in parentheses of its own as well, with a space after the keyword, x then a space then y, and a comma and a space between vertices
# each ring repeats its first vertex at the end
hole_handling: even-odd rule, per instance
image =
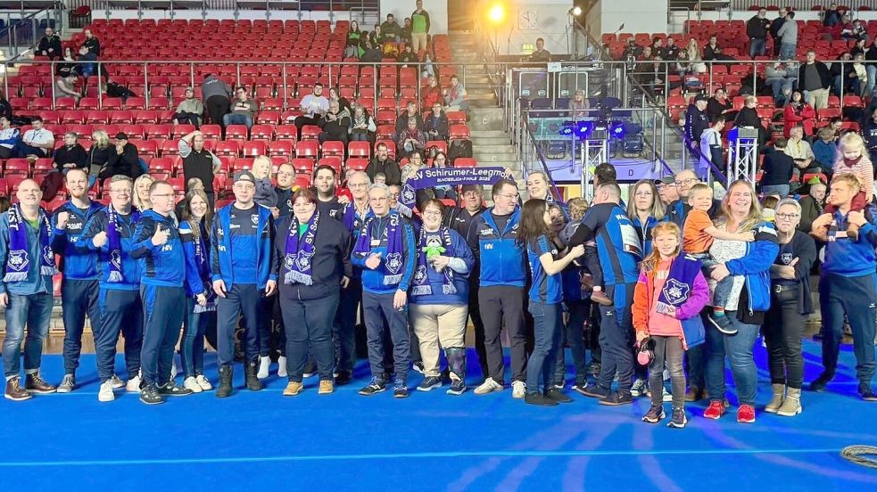
POLYGON ((134 183, 130 177, 112 176, 104 188, 110 192, 110 205, 92 215, 79 243, 97 253, 97 306, 101 325, 95 340, 97 376, 101 381, 97 399, 112 401, 115 399, 112 377, 119 333, 125 337, 126 389, 140 391, 143 303, 140 299, 140 266, 130 256, 140 212, 131 207, 134 183))

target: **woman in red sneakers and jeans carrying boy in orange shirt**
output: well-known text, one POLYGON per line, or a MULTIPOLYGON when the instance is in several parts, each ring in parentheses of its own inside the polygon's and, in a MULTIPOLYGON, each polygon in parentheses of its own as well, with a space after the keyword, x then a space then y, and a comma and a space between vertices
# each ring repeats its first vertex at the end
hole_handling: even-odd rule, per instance
POLYGON ((737 422, 755 422, 757 368, 752 349, 759 325, 770 307, 770 282, 766 273, 774 263, 779 248, 774 227, 763 222, 755 190, 745 181, 728 187, 716 227, 731 233, 755 233, 755 242, 740 247, 740 242, 713 240, 710 254, 719 263, 712 270, 716 282, 733 275, 732 291, 724 305, 726 317, 736 328, 733 336, 707 326, 707 392, 709 406, 704 416, 718 419, 724 412, 724 359, 731 361, 731 372, 740 407, 737 422), (744 284, 746 295, 743 295, 744 284))

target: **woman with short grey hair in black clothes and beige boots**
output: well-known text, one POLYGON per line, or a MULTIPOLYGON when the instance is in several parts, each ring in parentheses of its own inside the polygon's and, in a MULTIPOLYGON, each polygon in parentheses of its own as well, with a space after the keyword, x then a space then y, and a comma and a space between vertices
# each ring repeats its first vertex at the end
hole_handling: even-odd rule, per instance
POLYGON ((798 201, 780 201, 774 216, 780 251, 770 270, 771 307, 762 327, 774 398, 765 412, 790 417, 801 413, 801 339, 807 315, 813 312, 809 280, 816 246, 813 238, 796 231, 801 217, 798 201))

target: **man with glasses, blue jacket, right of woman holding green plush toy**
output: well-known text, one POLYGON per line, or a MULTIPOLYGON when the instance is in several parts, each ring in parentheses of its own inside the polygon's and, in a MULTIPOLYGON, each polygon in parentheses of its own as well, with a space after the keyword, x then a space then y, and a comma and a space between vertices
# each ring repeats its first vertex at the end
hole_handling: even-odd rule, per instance
POLYGON ((511 338, 512 396, 524 398, 526 380, 525 283, 526 254, 517 242, 521 211, 517 184, 501 179, 492 187, 493 207, 472 219, 467 242, 480 266, 478 307, 484 322, 484 350, 488 372, 476 395, 499 391, 505 384, 500 332, 511 338))

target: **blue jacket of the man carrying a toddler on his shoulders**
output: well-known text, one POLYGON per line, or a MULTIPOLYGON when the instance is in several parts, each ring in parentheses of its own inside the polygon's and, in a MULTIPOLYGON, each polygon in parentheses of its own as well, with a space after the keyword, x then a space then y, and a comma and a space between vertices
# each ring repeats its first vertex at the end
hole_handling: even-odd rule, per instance
MULTIPOLYGON (((847 217, 834 212, 834 225, 838 230, 847 230, 847 217)), ((874 248, 877 247, 877 228, 872 223, 866 223, 859 228, 857 241, 848 238, 840 238, 825 244, 825 261, 823 262, 823 275, 834 274, 846 277, 873 275, 877 260, 874 258, 874 248)))

